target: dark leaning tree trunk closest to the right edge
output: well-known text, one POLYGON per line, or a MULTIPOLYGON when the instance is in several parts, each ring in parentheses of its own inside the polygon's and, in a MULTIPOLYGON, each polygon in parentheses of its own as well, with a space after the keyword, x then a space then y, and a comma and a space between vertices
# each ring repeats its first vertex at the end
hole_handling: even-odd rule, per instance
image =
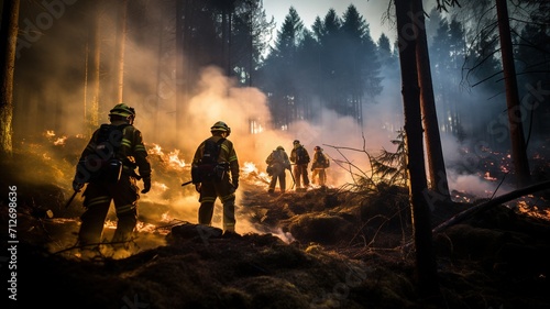
POLYGON ((512 140, 512 159, 516 172, 516 186, 525 187, 530 183, 529 161, 524 136, 521 108, 517 89, 516 67, 512 47, 510 24, 506 0, 496 0, 498 33, 501 34, 501 53, 503 59, 504 82, 506 85, 506 106, 512 140))

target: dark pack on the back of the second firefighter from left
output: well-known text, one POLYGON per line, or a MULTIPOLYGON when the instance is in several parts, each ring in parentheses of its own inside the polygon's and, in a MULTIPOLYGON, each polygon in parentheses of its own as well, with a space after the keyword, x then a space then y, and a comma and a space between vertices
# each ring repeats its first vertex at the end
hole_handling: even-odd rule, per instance
POLYGON ((229 169, 227 164, 218 163, 220 156, 221 144, 226 139, 220 139, 218 142, 212 140, 205 141, 202 157, 198 165, 191 167, 191 181, 199 184, 202 181, 221 181, 226 172, 229 169))

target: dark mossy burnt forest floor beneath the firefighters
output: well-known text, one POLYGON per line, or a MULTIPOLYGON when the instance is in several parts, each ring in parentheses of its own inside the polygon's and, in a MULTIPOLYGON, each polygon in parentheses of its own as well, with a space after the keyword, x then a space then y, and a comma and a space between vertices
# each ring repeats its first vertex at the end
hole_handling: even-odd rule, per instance
MULTIPOLYGON (((69 172, 44 159, 20 153, 2 162, 4 239, 13 223, 9 186, 18 196, 16 252, 0 254, 4 290, 16 282, 10 308, 550 308, 548 192, 433 234, 441 293, 426 299, 414 247, 404 246, 413 234, 404 188, 267 195, 265 179, 251 173, 241 180, 238 220, 254 232, 222 236, 188 221, 161 223, 147 209, 166 206, 144 201, 140 220, 150 225, 129 256, 82 260, 73 244, 78 198, 65 208, 69 172), (40 167, 25 170, 33 162, 40 167)), ((439 207, 432 224, 476 202, 439 207)))

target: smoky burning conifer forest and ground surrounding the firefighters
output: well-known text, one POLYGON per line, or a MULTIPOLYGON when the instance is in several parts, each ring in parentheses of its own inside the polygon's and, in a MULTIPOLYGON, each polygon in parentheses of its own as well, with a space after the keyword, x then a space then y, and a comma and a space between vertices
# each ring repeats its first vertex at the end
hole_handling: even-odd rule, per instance
POLYGON ((546 0, 392 0, 381 20, 365 20, 351 4, 308 25, 294 7, 276 24, 262 0, 4 0, 1 227, 9 224, 12 208, 4 206, 16 185, 25 228, 19 256, 48 265, 37 269, 43 278, 22 286, 57 294, 91 271, 97 276, 78 286, 113 280, 124 291, 103 299, 87 287, 77 294, 89 291, 86 308, 130 306, 128 295, 157 308, 544 308, 550 300, 538 291, 549 285, 541 262, 550 256, 541 241, 549 231, 549 9, 546 0), (395 33, 372 37, 371 26, 382 20, 395 33), (81 198, 74 202, 80 208, 65 206, 75 164, 120 102, 135 108, 153 162, 153 192, 142 197, 140 220, 158 228, 151 235, 140 230, 143 250, 128 260, 75 262, 70 235, 81 198), (245 177, 238 200, 246 219, 238 240, 215 236, 199 247, 205 239, 187 222, 196 221, 195 192, 180 184, 190 177, 197 145, 220 120, 232 129, 245 177), (263 196, 265 157, 296 139, 326 150, 329 190, 263 196), (185 224, 170 221, 169 233, 158 233, 168 214, 185 224), (470 235, 475 254, 468 253, 470 235), (498 250, 480 249, 482 240, 498 250), (518 257, 526 251, 537 256, 527 269, 529 262, 518 257), (235 273, 206 265, 226 255, 235 273), (220 293, 173 298, 157 287, 189 288, 193 277, 205 275, 186 268, 182 283, 153 275, 183 272, 172 267, 187 262, 222 274, 201 283, 220 293), (327 265, 332 280, 319 280, 327 265), (63 267, 74 273, 46 287, 46 275, 63 267), (333 278, 349 274, 345 267, 362 280, 333 302, 333 278), (522 271, 529 290, 524 300, 508 298, 520 290, 510 278, 522 271), (392 293, 374 288, 377 272, 392 273, 385 283, 392 293), (494 291, 495 283, 509 289, 494 291), (332 294, 316 297, 329 288, 332 294), (290 296, 288 304, 277 302, 278 293, 290 296))

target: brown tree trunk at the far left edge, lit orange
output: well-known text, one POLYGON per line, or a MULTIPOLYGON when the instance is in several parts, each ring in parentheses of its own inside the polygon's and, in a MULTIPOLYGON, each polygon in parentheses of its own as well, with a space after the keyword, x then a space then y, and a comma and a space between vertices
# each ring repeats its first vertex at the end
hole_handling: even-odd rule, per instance
POLYGON ((19 0, 6 0, 0 29, 0 156, 13 154, 13 74, 19 32, 19 0))

